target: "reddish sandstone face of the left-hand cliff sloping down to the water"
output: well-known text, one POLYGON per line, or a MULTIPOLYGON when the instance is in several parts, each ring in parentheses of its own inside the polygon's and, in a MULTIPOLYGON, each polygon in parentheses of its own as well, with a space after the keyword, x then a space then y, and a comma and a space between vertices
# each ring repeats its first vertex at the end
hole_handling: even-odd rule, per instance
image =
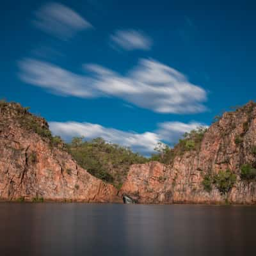
POLYGON ((67 152, 51 146, 48 139, 24 129, 20 125, 24 117, 47 129, 43 118, 32 116, 19 104, 1 107, 0 199, 121 202, 112 185, 77 166, 67 152))

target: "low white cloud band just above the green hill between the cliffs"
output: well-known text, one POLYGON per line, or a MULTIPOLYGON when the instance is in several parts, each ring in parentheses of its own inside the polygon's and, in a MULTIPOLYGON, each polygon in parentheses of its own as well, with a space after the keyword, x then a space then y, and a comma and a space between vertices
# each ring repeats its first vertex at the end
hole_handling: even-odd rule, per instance
POLYGON ((166 141, 173 145, 184 132, 189 132, 203 124, 165 122, 159 124, 159 129, 156 131, 143 133, 125 132, 86 122, 50 122, 49 125, 53 134, 60 135, 65 140, 70 140, 74 136, 84 136, 86 140, 101 137, 106 141, 130 147, 134 152, 148 156, 154 152, 158 141, 166 141))

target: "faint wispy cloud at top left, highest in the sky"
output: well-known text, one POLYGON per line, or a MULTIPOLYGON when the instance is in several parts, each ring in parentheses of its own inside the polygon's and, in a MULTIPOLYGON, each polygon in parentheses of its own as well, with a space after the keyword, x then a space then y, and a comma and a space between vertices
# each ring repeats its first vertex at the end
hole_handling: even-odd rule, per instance
POLYGON ((54 2, 45 4, 35 12, 33 23, 43 31, 63 40, 72 37, 77 31, 92 28, 92 24, 74 10, 54 2))

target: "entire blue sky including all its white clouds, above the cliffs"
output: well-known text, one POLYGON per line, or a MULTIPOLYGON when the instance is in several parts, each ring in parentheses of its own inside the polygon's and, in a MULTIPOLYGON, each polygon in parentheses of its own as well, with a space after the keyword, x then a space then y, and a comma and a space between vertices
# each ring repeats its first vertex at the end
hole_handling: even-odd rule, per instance
POLYGON ((143 154, 255 100, 253 1, 2 1, 0 97, 143 154))

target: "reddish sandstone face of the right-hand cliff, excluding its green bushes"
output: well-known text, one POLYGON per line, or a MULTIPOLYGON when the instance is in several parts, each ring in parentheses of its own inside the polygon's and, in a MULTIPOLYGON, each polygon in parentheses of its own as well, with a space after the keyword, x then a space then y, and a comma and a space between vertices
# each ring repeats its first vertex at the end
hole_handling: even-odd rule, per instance
POLYGON ((198 151, 175 156, 172 163, 151 162, 131 166, 119 191, 140 203, 206 203, 255 204, 256 182, 241 180, 241 165, 255 166, 252 148, 256 145, 256 107, 249 102, 239 111, 224 113, 209 127, 198 151), (207 192, 202 186, 206 173, 220 170, 237 174, 236 183, 225 195, 213 186, 207 192))

